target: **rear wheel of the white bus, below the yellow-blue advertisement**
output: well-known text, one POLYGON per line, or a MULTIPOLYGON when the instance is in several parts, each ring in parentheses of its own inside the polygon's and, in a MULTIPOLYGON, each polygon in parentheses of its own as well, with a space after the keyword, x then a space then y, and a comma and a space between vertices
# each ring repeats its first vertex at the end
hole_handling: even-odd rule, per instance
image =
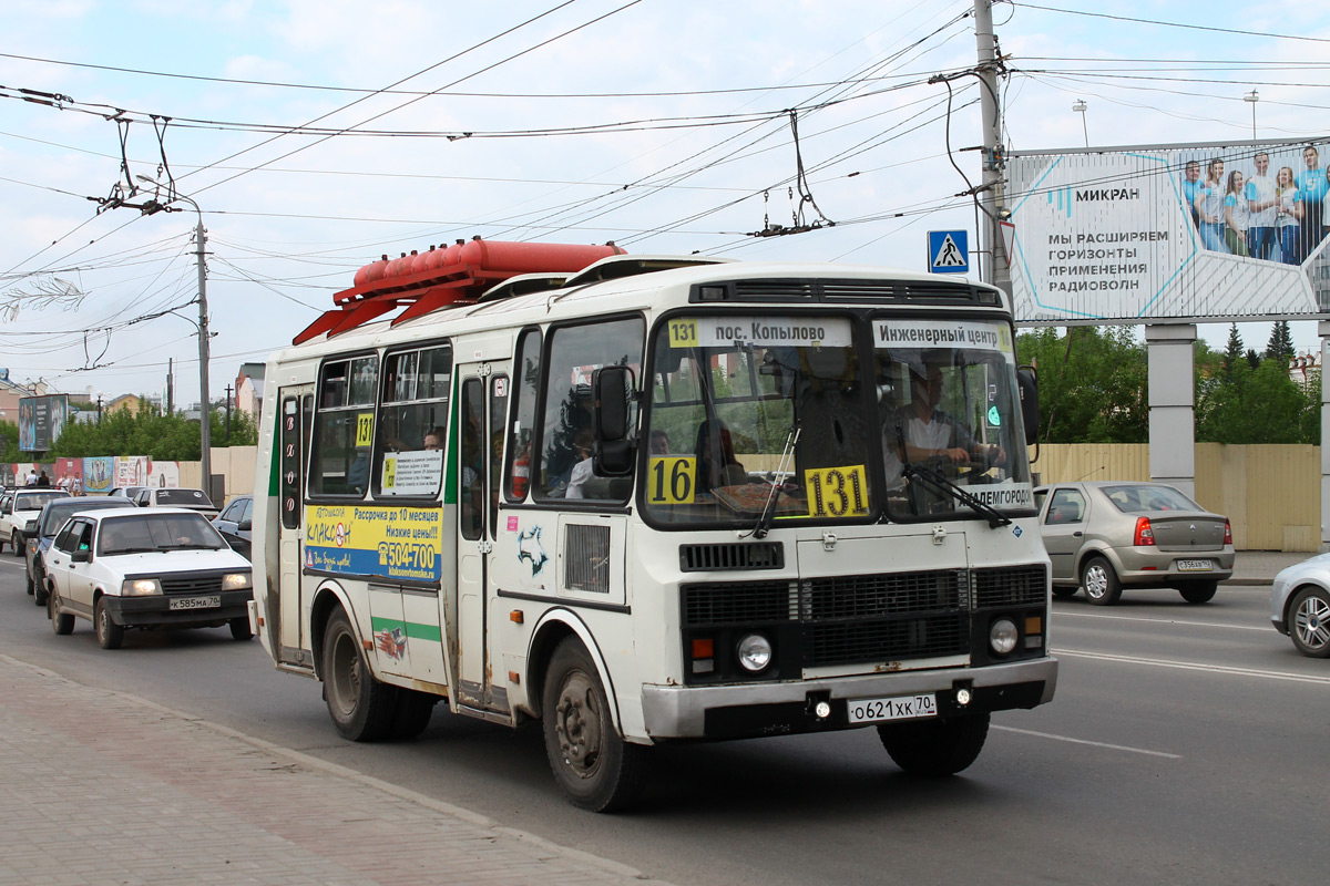
POLYGON ((340 608, 323 632, 323 696, 343 739, 378 741, 392 728, 395 687, 374 679, 355 628, 340 608))

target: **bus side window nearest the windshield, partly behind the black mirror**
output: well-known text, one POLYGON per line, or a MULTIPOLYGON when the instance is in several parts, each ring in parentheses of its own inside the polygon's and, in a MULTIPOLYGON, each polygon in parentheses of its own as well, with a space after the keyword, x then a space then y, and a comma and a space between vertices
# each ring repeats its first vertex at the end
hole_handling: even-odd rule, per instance
MULTIPOLYGON (((641 379, 645 325, 638 317, 559 327, 549 335, 545 399, 540 437, 540 472, 533 478, 537 498, 600 498, 622 501, 632 484, 600 482, 591 473, 591 377, 601 367, 629 367, 641 379), (592 482, 596 481, 596 482, 592 482)), ((637 425, 636 400, 629 425, 637 425)))

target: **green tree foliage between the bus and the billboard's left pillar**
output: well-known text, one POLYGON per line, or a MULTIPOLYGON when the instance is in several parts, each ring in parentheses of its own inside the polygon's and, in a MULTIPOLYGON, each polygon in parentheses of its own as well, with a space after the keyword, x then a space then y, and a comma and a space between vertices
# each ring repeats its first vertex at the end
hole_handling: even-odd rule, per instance
POLYGON ((1130 327, 1049 327, 1017 340, 1039 371, 1041 442, 1146 442, 1145 347, 1130 327))

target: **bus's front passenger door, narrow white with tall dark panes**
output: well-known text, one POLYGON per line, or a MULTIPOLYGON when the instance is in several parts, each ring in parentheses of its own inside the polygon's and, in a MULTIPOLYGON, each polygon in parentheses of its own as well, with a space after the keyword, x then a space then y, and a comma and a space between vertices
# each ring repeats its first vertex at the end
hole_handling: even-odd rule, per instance
POLYGON ((491 584, 500 466, 508 412, 508 361, 458 367, 458 695, 467 705, 508 711, 501 650, 491 642, 491 584))

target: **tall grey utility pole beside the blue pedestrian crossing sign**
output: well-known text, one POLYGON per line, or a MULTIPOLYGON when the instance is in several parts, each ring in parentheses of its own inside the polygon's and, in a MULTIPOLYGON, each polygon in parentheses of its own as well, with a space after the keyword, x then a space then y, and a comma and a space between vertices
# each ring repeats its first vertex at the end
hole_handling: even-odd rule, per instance
POLYGON ((983 112, 984 178, 980 194, 983 230, 979 231, 980 250, 987 252, 987 278, 1007 296, 1011 296, 1011 267, 1007 243, 1001 235, 1000 213, 1005 213, 1004 195, 1005 158, 1001 147, 1001 109, 998 105, 998 35, 994 33, 992 0, 975 0, 975 43, 979 48, 979 100, 983 112))

